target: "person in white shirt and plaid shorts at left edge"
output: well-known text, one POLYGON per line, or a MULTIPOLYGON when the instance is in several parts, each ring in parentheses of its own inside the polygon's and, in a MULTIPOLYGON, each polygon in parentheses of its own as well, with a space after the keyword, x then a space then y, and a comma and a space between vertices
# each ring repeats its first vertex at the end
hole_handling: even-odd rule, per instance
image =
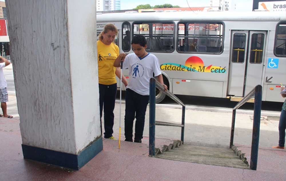
POLYGON ((0 56, 0 102, 1 102, 1 109, 3 111, 3 115, 0 114, 0 117, 5 118, 13 118, 13 116, 10 116, 7 114, 7 104, 8 102, 8 92, 7 92, 7 82, 4 77, 3 68, 8 66, 10 62, 0 56))

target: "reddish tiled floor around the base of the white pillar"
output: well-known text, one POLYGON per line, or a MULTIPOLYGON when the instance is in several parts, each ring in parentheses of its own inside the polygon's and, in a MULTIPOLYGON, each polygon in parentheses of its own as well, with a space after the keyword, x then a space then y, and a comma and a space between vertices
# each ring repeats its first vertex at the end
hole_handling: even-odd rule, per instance
MULTIPOLYGON (((286 150, 259 149, 257 171, 148 157, 148 145, 105 139, 79 171, 24 160, 19 119, 0 118, 0 180, 286 180, 286 150)), ((143 142, 148 141, 144 138, 143 142)), ((168 140, 156 139, 159 144, 168 140)), ((240 147, 249 154, 250 148, 240 147)), ((249 156, 249 155, 248 155, 249 156)))

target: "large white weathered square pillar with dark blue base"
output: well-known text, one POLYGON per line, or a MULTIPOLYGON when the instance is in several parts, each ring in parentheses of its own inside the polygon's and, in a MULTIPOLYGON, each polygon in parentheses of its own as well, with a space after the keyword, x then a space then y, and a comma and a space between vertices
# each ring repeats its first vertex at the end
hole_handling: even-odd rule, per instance
POLYGON ((96 1, 6 5, 24 158, 78 170, 102 150, 96 1))

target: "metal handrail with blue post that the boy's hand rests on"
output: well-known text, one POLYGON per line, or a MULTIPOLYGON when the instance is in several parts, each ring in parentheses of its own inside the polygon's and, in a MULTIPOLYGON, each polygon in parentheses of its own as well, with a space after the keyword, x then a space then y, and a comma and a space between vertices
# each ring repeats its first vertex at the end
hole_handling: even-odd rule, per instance
MULTIPOLYGON (((182 105, 182 124, 181 127, 181 141, 184 143, 184 130, 185 130, 185 110, 186 105, 178 99, 170 91, 165 91, 164 87, 155 79, 150 79, 150 103, 149 103, 149 156, 155 156, 155 108, 156 108, 156 87, 164 94, 172 98, 178 104, 182 105)), ((162 126, 178 126, 179 124, 166 123, 157 121, 157 125, 162 126)))

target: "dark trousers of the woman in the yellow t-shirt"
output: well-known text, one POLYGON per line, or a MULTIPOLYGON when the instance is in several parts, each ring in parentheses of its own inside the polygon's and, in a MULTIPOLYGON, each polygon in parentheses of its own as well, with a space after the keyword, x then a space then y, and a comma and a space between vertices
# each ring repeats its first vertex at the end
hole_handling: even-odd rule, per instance
MULTIPOLYGON (((100 108, 100 127, 102 109, 104 111, 104 138, 110 138, 113 133, 114 124, 114 106, 117 92, 117 84, 103 85, 99 84, 99 108, 100 108)), ((102 133, 101 133, 102 134, 102 133)))

